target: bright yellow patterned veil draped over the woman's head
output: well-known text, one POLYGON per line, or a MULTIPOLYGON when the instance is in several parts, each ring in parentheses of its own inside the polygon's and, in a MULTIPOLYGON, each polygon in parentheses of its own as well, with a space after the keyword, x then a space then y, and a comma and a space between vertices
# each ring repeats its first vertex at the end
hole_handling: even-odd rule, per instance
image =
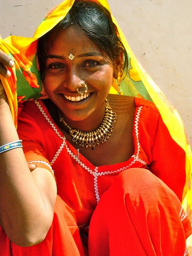
MULTIPOLYGON (((4 40, 0 39, 0 49, 9 54, 15 61, 15 67, 9 68, 12 76, 4 78, 0 75, 9 105, 13 115, 15 126, 17 126, 17 105, 30 99, 45 98, 46 93, 41 83, 41 74, 37 61, 37 39, 51 30, 61 21, 75 0, 65 0, 49 13, 40 23, 33 38, 9 36, 4 40)), ((109 9, 106 0, 97 0, 100 4, 109 9)), ((111 15, 112 16, 112 15, 111 15)), ((154 102, 159 109, 164 124, 167 126, 173 140, 186 152, 186 185, 183 190, 183 207, 192 216, 192 153, 189 142, 186 138, 181 117, 175 108, 166 99, 160 88, 154 83, 149 75, 142 68, 132 53, 122 30, 112 16, 119 36, 124 44, 129 58, 128 72, 121 84, 121 91, 125 95, 142 97, 154 102)), ((117 93, 116 88, 111 87, 110 93, 117 93)))

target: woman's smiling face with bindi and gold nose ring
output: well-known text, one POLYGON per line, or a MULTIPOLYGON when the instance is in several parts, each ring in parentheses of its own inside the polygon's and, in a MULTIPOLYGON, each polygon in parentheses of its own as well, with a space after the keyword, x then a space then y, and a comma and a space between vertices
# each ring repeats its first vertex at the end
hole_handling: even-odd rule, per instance
POLYGON ((49 48, 44 86, 67 119, 82 121, 103 109, 116 73, 117 65, 81 30, 70 27, 61 31, 49 48), (68 58, 70 54, 73 60, 68 58), (77 92, 81 82, 88 87, 83 100, 77 92))

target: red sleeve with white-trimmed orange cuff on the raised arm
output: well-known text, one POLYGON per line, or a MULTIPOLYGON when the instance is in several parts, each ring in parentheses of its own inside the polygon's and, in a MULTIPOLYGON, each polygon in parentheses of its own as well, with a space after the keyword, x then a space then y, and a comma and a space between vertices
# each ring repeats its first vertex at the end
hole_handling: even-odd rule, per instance
MULTIPOLYGON (((36 116, 35 112, 33 116, 36 116)), ((47 169, 53 174, 45 152, 45 131, 41 128, 41 119, 34 119, 23 109, 18 118, 17 132, 19 139, 22 140, 23 152, 28 164, 34 163, 37 167, 47 169)))

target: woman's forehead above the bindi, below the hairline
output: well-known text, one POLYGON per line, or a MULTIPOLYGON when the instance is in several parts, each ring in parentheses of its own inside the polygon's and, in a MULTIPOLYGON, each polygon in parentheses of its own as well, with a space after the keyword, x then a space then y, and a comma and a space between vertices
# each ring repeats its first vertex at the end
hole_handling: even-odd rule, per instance
POLYGON ((54 38, 53 43, 49 48, 50 51, 56 54, 81 54, 90 51, 97 51, 101 53, 102 51, 98 46, 90 40, 83 32, 78 28, 67 28, 66 30, 60 31, 54 38))

